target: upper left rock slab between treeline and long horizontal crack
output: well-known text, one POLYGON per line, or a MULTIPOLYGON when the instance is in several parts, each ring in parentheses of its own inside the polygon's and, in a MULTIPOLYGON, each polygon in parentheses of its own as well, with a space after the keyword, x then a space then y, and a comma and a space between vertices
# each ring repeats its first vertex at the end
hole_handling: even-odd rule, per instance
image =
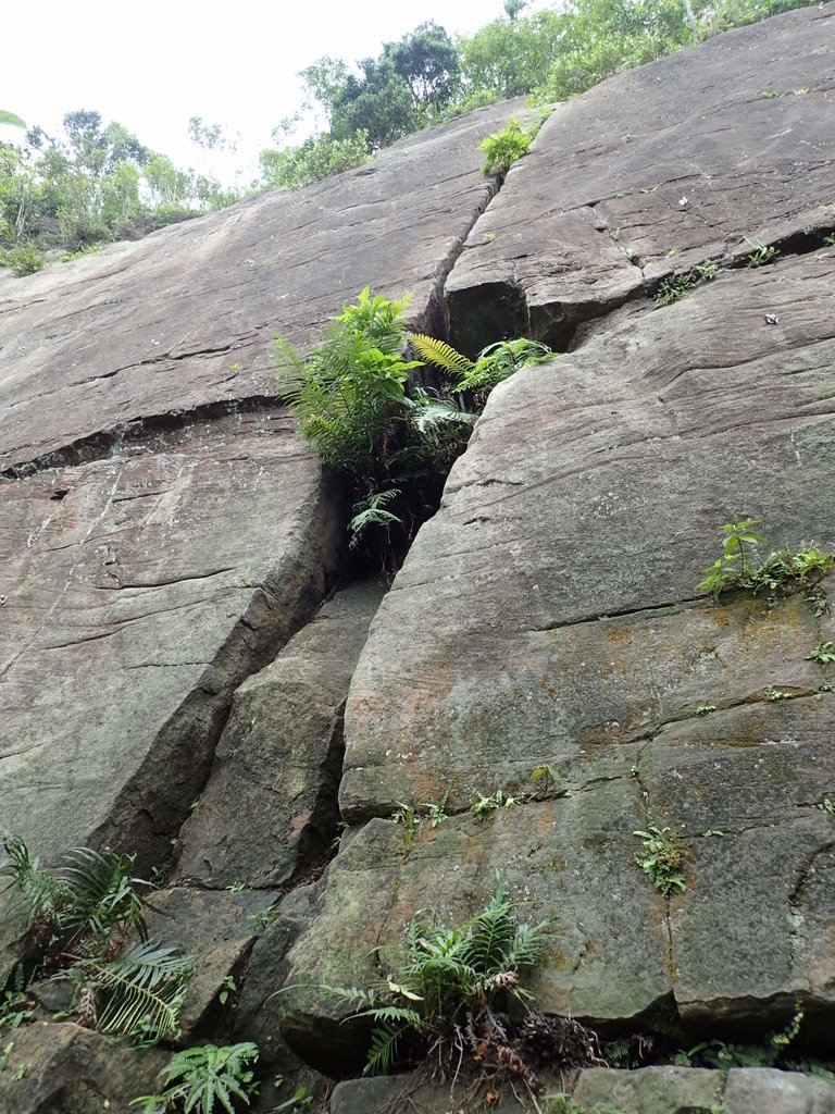
POLYGON ((479 141, 521 108, 480 109, 303 192, 7 280, 0 471, 73 443, 87 453, 155 416, 263 401, 275 390, 269 339, 310 343, 366 284, 411 291, 415 323, 429 328, 495 188, 479 141))

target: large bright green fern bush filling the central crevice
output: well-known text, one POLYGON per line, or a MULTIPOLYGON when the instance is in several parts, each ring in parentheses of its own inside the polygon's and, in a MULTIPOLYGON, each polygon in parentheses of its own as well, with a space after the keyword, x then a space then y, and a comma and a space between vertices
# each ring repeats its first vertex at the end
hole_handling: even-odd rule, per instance
POLYGON ((306 360, 282 338, 272 345, 278 390, 299 433, 351 483, 352 545, 362 540, 371 551, 376 544, 385 571, 396 566, 415 520, 434 509, 477 417, 445 387, 429 392, 412 380, 423 364, 404 354, 409 301, 372 296, 366 287, 306 360))

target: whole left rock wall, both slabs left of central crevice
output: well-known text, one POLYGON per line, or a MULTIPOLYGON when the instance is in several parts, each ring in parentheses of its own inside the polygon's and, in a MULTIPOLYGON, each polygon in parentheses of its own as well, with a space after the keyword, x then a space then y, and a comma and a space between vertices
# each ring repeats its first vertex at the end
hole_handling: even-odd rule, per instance
POLYGON ((0 824, 42 854, 164 859, 234 690, 342 546, 338 492, 265 399, 267 341, 310 342, 365 284, 436 323, 494 189, 478 141, 515 107, 3 285, 0 824))

